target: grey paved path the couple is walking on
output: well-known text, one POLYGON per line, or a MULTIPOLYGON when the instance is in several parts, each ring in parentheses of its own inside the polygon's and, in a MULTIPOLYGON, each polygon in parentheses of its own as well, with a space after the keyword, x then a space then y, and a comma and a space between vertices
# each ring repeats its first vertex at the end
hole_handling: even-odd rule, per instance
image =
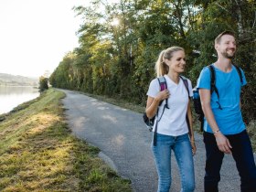
MULTIPOLYGON (((75 91, 64 91, 63 99, 69 127, 77 137, 101 149, 100 156, 120 176, 132 181, 135 192, 155 192, 157 174, 148 132, 142 114, 98 101, 75 91)), ((194 156, 196 191, 203 191, 205 149, 202 136, 195 134, 197 155, 194 156)), ((180 191, 176 160, 172 156, 171 191, 180 191)), ((239 192, 240 177, 234 160, 226 155, 221 169, 219 192, 239 192)))

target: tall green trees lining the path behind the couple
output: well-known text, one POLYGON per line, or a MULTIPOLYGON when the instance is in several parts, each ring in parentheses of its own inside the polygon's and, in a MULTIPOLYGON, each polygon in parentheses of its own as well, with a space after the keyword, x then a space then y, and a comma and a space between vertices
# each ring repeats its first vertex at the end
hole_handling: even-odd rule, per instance
POLYGON ((251 0, 93 0, 76 7, 84 22, 80 47, 69 52, 50 76, 54 87, 87 91, 145 104, 155 61, 162 49, 186 49, 187 73, 196 84, 199 71, 216 60, 214 38, 223 30, 238 36, 234 62, 244 69, 244 112, 256 116, 256 4, 251 0), (113 23, 113 21, 117 22, 113 23))

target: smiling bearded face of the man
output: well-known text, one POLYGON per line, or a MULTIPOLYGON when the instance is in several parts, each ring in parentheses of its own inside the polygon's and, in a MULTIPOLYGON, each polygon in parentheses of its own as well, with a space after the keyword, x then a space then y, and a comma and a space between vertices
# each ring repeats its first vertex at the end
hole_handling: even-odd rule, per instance
POLYGON ((222 57, 232 59, 237 50, 236 39, 233 36, 224 35, 220 38, 219 43, 215 45, 215 48, 222 57))

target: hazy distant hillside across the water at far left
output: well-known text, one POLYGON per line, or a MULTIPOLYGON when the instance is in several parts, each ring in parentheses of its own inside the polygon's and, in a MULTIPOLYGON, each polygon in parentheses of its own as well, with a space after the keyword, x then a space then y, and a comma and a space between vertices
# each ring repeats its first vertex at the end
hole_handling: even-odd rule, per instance
POLYGON ((7 86, 38 86, 37 78, 27 78, 20 75, 0 73, 0 85, 7 86))

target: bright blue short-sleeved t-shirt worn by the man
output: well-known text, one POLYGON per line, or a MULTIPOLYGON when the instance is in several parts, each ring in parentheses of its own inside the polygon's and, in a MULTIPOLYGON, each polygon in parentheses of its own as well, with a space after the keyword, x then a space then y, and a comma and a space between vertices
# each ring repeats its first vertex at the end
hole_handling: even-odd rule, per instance
MULTIPOLYGON (((241 70, 241 84, 239 73, 234 66, 229 72, 223 72, 215 66, 214 69, 216 74, 215 85, 219 91, 219 99, 216 92, 213 91, 210 105, 219 130, 223 134, 240 133, 245 129, 240 111, 240 88, 247 84, 244 73, 241 70)), ((197 89, 210 90, 210 70, 208 67, 202 69, 197 80, 197 89)), ((213 133, 206 118, 204 120, 204 131, 213 133)))

